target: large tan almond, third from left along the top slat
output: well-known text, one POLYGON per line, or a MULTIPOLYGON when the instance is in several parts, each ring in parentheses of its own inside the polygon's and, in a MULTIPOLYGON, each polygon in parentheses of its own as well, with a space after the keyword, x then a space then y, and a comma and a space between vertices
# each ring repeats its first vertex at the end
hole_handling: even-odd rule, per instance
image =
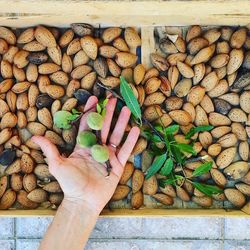
POLYGON ((45 47, 56 47, 56 39, 53 34, 44 26, 38 26, 35 30, 35 38, 45 47))

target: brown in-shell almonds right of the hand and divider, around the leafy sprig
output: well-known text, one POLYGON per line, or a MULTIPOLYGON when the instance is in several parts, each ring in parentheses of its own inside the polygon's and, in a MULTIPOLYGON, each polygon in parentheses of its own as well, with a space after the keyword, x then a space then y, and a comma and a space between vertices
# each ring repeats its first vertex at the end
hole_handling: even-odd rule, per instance
MULTIPOLYGON (((161 188, 157 183, 161 175, 144 180, 140 171, 145 173, 153 159, 143 137, 133 152, 134 155, 142 153, 142 169, 133 173, 128 163, 121 186, 124 178, 132 176, 131 205, 135 209, 143 205, 142 194, 145 194, 164 205, 172 205, 176 198, 192 200, 204 207, 212 206, 213 200, 228 200, 234 207, 250 213, 249 30, 245 27, 202 30, 196 25, 189 27, 185 35, 160 37, 157 53, 151 54, 153 67, 145 70, 137 65, 134 78, 128 80, 133 81, 134 89, 140 86, 144 89, 136 94, 146 119, 165 127, 180 125, 179 133, 175 134, 177 142, 189 143, 185 134, 193 126, 214 126, 210 132, 194 135, 194 149, 199 156, 213 161, 213 168, 200 181, 217 185, 224 193, 208 197, 187 181, 177 187, 161 188)), ((201 161, 187 163, 186 175, 192 176, 201 164, 201 161)), ((116 200, 118 195, 123 196, 120 188, 115 193, 116 200)))

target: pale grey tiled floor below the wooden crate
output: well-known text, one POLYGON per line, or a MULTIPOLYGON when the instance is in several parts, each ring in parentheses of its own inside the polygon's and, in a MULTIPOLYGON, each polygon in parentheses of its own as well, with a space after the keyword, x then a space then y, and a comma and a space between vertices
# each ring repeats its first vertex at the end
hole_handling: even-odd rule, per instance
MULTIPOLYGON (((51 220, 0 218, 0 249, 38 249, 51 220)), ((249 250, 250 218, 102 218, 86 249, 249 250)))

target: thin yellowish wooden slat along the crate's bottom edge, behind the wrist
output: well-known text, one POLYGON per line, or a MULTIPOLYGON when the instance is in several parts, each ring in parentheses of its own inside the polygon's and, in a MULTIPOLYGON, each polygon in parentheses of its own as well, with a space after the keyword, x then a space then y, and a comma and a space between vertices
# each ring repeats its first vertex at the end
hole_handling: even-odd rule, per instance
MULTIPOLYGON (((0 217, 54 216, 55 210, 5 210, 0 217)), ((225 209, 114 209, 104 210, 100 217, 249 217, 240 210, 225 209)))

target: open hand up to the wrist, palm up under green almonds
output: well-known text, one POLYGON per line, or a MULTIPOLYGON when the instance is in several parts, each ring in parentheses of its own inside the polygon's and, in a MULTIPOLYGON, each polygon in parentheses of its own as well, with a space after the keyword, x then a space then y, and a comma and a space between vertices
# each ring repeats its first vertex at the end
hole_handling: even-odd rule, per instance
MULTIPOLYGON (((112 197, 123 173, 123 167, 140 134, 139 128, 133 127, 124 144, 121 147, 119 146, 131 114, 127 107, 123 107, 109 142, 107 142, 116 102, 116 98, 109 99, 104 125, 101 130, 101 141, 103 144, 107 144, 109 148, 109 162, 112 167, 108 177, 106 164, 96 162, 91 157, 89 149, 83 149, 76 144, 73 153, 65 158, 60 155, 56 146, 45 137, 32 137, 32 140, 41 147, 47 157, 49 171, 61 185, 64 192, 64 202, 80 204, 98 214, 112 197)), ((87 114, 95 111, 97 103, 98 99, 95 96, 88 99, 84 111, 90 111, 82 116, 78 133, 89 130, 86 122, 87 114)))

